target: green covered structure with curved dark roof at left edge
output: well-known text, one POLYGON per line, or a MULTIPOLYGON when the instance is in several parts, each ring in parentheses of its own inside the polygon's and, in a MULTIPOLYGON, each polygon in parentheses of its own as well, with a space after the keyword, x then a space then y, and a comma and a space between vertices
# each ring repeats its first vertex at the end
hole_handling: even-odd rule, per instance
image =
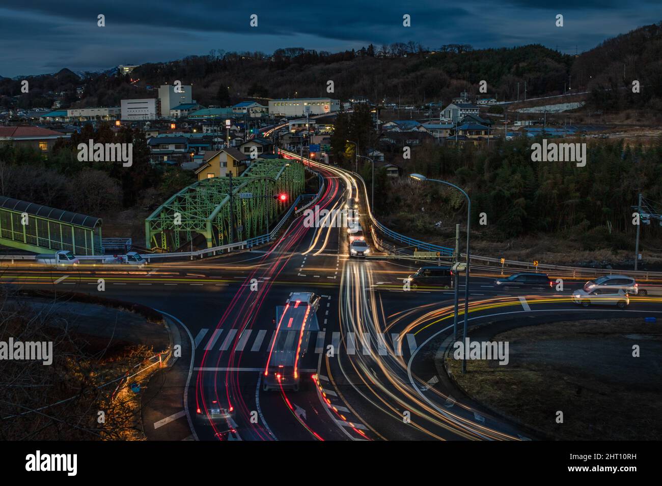
POLYGON ((101 218, 0 196, 0 244, 35 253, 102 255, 101 218))

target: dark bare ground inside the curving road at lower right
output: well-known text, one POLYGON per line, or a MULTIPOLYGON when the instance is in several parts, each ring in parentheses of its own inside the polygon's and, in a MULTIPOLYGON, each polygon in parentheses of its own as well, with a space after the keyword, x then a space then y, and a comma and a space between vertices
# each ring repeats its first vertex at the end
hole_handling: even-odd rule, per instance
POLYGON ((451 356, 447 365, 468 395, 497 413, 562 440, 657 440, 662 433, 660 323, 549 323, 491 341, 508 341, 508 365, 468 361, 465 375, 461 361, 451 356))

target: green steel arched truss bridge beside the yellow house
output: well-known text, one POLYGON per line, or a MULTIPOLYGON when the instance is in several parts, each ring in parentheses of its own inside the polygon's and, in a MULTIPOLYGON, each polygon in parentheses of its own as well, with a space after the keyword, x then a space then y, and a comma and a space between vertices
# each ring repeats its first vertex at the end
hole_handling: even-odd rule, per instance
POLYGON ((203 235, 213 248, 263 235, 304 187, 303 164, 289 159, 258 159, 239 177, 195 182, 145 220, 146 247, 177 251, 203 235))

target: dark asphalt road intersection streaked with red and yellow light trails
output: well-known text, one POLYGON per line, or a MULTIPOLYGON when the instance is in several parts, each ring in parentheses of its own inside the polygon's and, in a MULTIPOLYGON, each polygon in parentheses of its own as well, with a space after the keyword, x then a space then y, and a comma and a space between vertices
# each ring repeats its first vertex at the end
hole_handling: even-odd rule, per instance
MULTIPOLYGON (((322 169, 320 208, 342 208, 356 184, 322 169)), ((470 401, 453 397, 434 360, 453 329, 453 292, 403 290, 418 264, 400 259, 348 258, 344 228, 308 228, 299 216, 269 247, 145 269, 79 266, 52 270, 30 264, 3 269, 0 282, 101 294, 149 305, 190 333, 193 366, 187 411, 200 440, 521 440, 516 426, 470 401), (311 333, 300 364, 300 391, 263 391, 261 371, 275 331, 275 307, 293 292, 322 296, 320 331, 311 333), (216 401, 232 416, 209 421, 216 401)), ((496 290, 497 274, 472 272, 469 324, 521 316, 585 319, 612 315, 660 317, 659 299, 632 298, 628 309, 583 309, 563 292, 496 290)), ((463 280, 460 280, 460 296, 463 280)), ((463 305, 460 305, 462 311, 463 305)), ((460 314, 460 329, 461 319, 460 314)), ((186 417, 185 415, 188 415, 186 417)))

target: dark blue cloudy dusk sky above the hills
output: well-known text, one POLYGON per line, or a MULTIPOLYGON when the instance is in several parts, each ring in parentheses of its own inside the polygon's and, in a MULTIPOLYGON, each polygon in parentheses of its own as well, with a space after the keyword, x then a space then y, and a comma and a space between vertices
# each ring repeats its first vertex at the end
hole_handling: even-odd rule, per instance
POLYGON ((393 42, 544 44, 567 54, 662 20, 660 0, 419 0, 237 2, 219 0, 3 0, 0 75, 97 71, 118 64, 171 61, 212 49, 339 50, 393 42), (225 5, 224 5, 225 4, 225 5), (563 14, 563 28, 555 16, 563 14), (104 14, 106 26, 97 26, 104 14), (258 27, 249 26, 258 15, 258 27), (402 26, 409 14, 412 26, 402 26))

